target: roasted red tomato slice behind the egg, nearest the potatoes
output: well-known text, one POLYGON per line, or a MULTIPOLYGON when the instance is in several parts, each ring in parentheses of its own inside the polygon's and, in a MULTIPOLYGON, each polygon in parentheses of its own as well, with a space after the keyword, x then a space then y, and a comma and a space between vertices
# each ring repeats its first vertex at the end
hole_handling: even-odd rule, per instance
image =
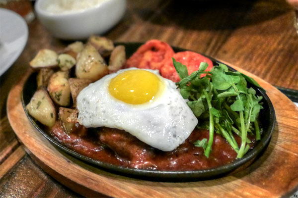
POLYGON ((127 61, 126 67, 158 69, 173 56, 173 49, 162 41, 149 40, 142 45, 127 61))

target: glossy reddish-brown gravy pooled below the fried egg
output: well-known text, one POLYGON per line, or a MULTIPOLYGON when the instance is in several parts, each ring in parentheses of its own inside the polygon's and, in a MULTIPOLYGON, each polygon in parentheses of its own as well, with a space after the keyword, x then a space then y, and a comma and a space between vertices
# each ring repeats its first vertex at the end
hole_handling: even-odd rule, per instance
MULTIPOLYGON (((202 170, 230 163, 237 156, 221 135, 214 134, 212 151, 207 158, 203 148, 193 145, 197 140, 209 138, 209 131, 205 129, 195 129, 178 148, 164 152, 122 130, 76 127, 77 130, 68 135, 57 121, 50 133, 77 153, 123 167, 162 171, 202 170)), ((235 135, 235 139, 239 145, 240 137, 235 135)))

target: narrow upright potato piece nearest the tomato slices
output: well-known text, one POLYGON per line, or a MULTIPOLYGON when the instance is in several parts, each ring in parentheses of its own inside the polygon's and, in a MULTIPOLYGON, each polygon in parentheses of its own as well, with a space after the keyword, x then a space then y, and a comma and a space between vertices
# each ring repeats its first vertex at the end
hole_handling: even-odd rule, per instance
POLYGON ((124 46, 117 46, 111 53, 109 60, 109 73, 114 73, 121 69, 126 61, 126 53, 124 46))

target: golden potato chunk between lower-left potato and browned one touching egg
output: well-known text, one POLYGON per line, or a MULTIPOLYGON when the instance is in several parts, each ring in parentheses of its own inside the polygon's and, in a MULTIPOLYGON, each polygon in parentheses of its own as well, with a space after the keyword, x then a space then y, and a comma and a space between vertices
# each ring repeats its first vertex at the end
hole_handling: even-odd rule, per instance
POLYGON ((48 85, 51 98, 61 106, 70 105, 71 88, 68 82, 68 72, 58 71, 54 73, 48 85))

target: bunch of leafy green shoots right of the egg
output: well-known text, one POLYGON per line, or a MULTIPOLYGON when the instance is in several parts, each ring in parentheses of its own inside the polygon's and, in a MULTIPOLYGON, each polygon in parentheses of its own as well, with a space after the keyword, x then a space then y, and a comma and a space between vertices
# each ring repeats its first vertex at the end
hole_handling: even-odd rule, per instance
POLYGON ((189 99, 188 106, 199 123, 203 123, 199 127, 209 129, 209 140, 198 140, 194 145, 204 148, 205 156, 209 157, 216 132, 237 152, 237 158, 241 158, 250 148, 247 133, 255 134, 256 140, 260 140, 257 117, 263 108, 262 97, 256 96, 253 88, 247 88, 247 82, 257 87, 260 85, 240 72, 229 71, 221 63, 211 71, 205 71, 208 64, 201 62, 199 70, 188 75, 186 66, 172 59, 181 79, 176 85, 182 97, 189 99), (206 76, 201 78, 202 74, 206 76), (241 137, 240 147, 233 133, 241 137))

